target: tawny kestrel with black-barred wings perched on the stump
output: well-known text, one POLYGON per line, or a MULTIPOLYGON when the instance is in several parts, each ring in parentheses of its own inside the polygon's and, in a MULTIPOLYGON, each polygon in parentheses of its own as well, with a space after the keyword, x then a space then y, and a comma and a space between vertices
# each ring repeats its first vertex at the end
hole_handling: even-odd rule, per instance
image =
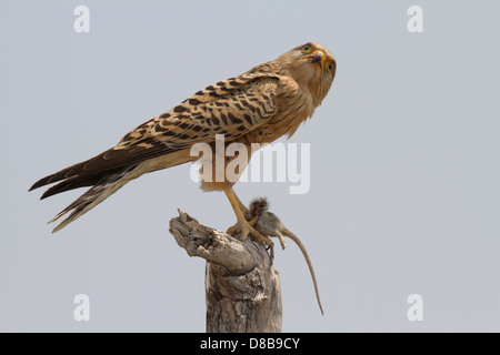
MULTIPOLYGON (((116 146, 39 180, 30 191, 58 182, 43 193, 41 199, 46 199, 91 186, 50 221, 70 213, 52 231, 57 232, 129 181, 198 160, 198 156, 191 156, 191 146, 196 143, 213 145, 216 134, 223 134, 227 145, 233 142, 244 144, 249 152, 252 143, 271 143, 282 135, 291 136, 321 104, 330 90, 336 68, 333 55, 322 45, 299 45, 239 77, 198 91, 126 134, 116 146)), ((229 162, 230 159, 226 159, 224 163, 229 162)), ((242 240, 251 233, 259 242, 272 245, 244 219, 248 210, 236 195, 234 183, 227 179, 202 180, 201 189, 223 191, 228 196, 237 216, 237 224, 229 229, 229 233, 241 233, 242 240)))

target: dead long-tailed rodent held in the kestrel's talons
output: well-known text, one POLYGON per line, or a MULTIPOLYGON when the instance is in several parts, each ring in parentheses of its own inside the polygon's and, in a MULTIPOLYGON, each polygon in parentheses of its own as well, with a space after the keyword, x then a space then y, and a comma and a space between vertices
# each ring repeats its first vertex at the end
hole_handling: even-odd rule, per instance
POLYGON ((306 258, 306 263, 309 266, 309 272, 311 273, 312 284, 314 285, 316 300, 318 301, 321 314, 324 314, 323 306, 321 305, 321 300, 319 296, 319 288, 318 282, 316 281, 314 268, 312 267, 312 263, 309 257, 308 251, 306 250, 306 246, 302 244, 300 239, 292 232, 290 232, 274 213, 269 212, 268 199, 266 197, 253 199, 250 202, 248 211, 249 212, 246 215, 247 220, 249 221, 252 220, 254 222, 253 227, 260 234, 266 236, 279 237, 282 248, 284 248, 287 245, 283 236, 288 236, 293 242, 296 242, 297 246, 299 246, 303 257, 306 258))

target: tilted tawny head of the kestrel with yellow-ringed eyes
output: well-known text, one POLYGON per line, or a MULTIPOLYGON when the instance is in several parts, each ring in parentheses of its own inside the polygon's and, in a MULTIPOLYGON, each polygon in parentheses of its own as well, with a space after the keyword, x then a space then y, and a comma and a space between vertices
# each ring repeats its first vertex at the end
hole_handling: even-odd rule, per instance
POLYGON ((336 77, 336 59, 318 43, 299 45, 280 55, 277 62, 299 87, 309 89, 314 106, 324 99, 336 77))

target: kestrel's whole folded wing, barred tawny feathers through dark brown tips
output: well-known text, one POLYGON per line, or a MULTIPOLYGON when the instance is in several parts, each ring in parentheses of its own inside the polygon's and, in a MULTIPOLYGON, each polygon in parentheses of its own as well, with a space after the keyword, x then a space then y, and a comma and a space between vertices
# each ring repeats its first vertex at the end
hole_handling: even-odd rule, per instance
POLYGON ((256 70, 220 81, 139 125, 114 148, 46 176, 30 190, 62 181, 49 189, 42 195, 44 199, 94 185, 108 174, 119 174, 146 160, 188 149, 194 143, 213 142, 216 134, 237 139, 266 123, 274 113, 278 85, 278 77, 256 70))

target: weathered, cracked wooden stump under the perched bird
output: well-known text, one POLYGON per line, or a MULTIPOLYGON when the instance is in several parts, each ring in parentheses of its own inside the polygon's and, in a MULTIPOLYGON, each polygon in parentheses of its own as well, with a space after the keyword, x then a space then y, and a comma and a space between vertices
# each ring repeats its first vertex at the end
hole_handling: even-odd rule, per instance
POLYGON ((280 276, 264 246, 204 226, 180 210, 170 233, 189 256, 207 260, 208 333, 281 332, 280 276))

